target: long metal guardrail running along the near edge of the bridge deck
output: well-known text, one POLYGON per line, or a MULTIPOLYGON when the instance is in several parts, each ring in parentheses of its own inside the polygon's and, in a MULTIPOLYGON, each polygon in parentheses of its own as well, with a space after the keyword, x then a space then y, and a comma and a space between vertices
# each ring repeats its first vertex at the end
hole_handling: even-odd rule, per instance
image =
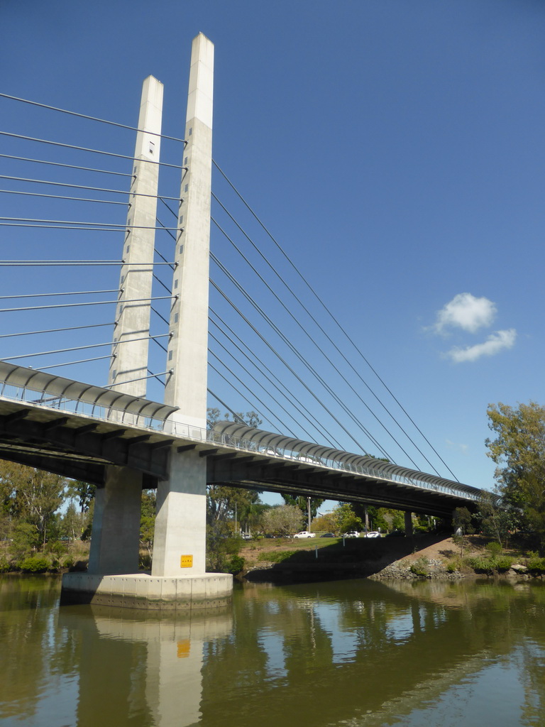
POLYGON ((214 430, 206 430, 201 427, 185 425, 181 422, 175 422, 171 419, 161 419, 159 417, 145 417, 144 415, 134 414, 124 409, 116 409, 113 406, 105 407, 97 403, 90 403, 78 398, 66 398, 58 395, 48 394, 47 391, 31 389, 30 387, 22 387, 1 382, 0 397, 11 401, 22 401, 33 406, 44 406, 46 409, 55 409, 57 411, 65 411, 69 414, 78 414, 84 417, 92 417, 100 419, 103 422, 115 424, 124 424, 140 429, 152 430, 158 433, 174 435, 178 438, 188 439, 197 442, 216 443, 220 446, 234 447, 249 454, 262 454, 267 457, 278 457, 279 459, 289 459, 291 462, 300 462, 305 465, 313 465, 315 467, 325 467, 329 470, 340 470, 355 475, 364 475, 382 481, 399 482, 400 484, 418 487, 419 489, 427 489, 430 491, 444 492, 468 500, 478 500, 480 495, 468 492, 463 489, 457 489, 456 483, 448 486, 442 483, 429 483, 419 478, 410 478, 396 473, 387 473, 385 475, 378 468, 365 467, 363 465, 355 465, 352 462, 342 462, 339 459, 328 459, 326 457, 310 457, 308 454, 301 454, 298 451, 270 446, 263 446, 249 439, 238 438, 234 435, 220 434, 214 430))

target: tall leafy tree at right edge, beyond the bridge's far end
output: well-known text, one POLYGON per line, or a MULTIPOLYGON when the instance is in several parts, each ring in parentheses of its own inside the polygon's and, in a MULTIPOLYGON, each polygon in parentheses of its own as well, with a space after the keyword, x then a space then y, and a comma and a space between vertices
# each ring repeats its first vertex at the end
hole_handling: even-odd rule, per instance
POLYGON ((487 439, 487 452, 496 467, 502 501, 520 513, 520 526, 535 532, 545 546, 545 407, 530 401, 516 408, 490 404, 488 427, 496 434, 487 439))

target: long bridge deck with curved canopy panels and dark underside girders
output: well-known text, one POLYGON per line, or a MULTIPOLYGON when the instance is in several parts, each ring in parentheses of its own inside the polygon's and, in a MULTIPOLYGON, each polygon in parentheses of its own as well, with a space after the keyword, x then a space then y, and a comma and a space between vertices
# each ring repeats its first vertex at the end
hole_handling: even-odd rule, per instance
POLYGON ((483 491, 389 462, 252 427, 171 422, 162 404, 0 362, 0 457, 102 486, 109 464, 145 486, 166 477, 171 447, 197 449, 209 483, 448 516, 483 491), (40 385, 39 389, 31 385, 40 385), (123 408, 118 408, 121 403, 123 408))

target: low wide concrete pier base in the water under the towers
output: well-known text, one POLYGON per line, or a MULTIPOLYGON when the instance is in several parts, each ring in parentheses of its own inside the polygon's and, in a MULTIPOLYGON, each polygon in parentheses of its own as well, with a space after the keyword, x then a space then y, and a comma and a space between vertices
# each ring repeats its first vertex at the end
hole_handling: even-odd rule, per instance
POLYGON ((232 594, 233 576, 228 573, 182 577, 65 573, 61 603, 96 603, 153 611, 204 611, 227 606, 232 594))

